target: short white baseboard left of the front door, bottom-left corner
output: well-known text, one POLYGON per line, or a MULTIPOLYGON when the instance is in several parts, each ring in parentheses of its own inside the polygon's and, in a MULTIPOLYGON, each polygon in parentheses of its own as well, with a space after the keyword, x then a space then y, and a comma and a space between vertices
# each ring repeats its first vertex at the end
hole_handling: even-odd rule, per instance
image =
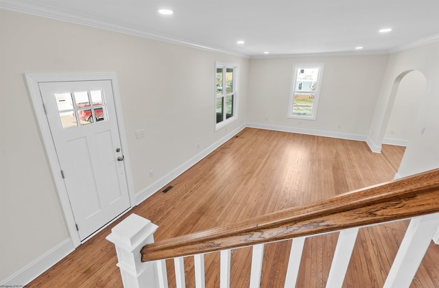
POLYGON ((56 245, 0 283, 0 287, 23 287, 75 250, 71 239, 56 245))

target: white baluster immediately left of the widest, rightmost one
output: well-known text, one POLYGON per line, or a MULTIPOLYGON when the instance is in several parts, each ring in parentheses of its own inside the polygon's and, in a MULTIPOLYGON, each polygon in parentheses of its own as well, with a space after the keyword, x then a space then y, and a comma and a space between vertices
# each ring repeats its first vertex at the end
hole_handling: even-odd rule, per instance
POLYGON ((344 276, 346 276, 349 261, 351 260, 355 240, 357 240, 358 230, 359 228, 349 228, 340 231, 331 269, 329 270, 328 288, 342 287, 344 276))

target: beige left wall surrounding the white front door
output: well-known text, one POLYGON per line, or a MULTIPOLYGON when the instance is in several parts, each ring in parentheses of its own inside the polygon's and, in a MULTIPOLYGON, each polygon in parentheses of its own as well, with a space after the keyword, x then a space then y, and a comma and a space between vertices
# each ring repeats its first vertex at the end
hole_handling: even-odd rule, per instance
POLYGON ((247 58, 5 10, 0 40, 0 283, 69 239, 23 73, 117 73, 135 193, 226 135, 214 131, 215 61, 239 64, 228 132, 245 123, 247 58))

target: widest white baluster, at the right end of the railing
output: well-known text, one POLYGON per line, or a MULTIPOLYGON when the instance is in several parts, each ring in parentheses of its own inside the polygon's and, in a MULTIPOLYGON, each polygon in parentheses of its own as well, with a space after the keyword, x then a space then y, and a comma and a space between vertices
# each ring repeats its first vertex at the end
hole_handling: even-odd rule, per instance
POLYGON ((384 288, 409 287, 439 226, 439 213, 413 218, 396 254, 384 288))

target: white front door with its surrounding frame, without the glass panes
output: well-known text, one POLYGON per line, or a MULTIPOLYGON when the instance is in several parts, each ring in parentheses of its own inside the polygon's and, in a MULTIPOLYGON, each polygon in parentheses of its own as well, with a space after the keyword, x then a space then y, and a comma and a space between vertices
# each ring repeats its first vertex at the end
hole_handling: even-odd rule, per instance
POLYGON ((67 226, 76 247, 88 235, 98 232, 108 221, 129 209, 130 202, 134 203, 117 77, 115 73, 26 74, 25 77, 67 226), (88 85, 88 91, 99 90, 99 85, 105 86, 104 111, 108 118, 106 121, 94 121, 90 125, 79 124, 75 128, 63 129, 53 95, 85 91, 84 87, 78 90, 78 84, 88 85), (45 96, 47 118, 41 96, 43 93, 52 94, 52 98, 45 96), (117 148, 120 150, 117 151, 117 148), (117 160, 122 155, 123 160, 117 160), (62 178, 61 170, 65 179, 62 178), (72 194, 71 189, 79 193, 72 194), (84 201, 83 197, 88 197, 88 200, 84 201), (79 232, 75 224, 78 224, 79 232))

